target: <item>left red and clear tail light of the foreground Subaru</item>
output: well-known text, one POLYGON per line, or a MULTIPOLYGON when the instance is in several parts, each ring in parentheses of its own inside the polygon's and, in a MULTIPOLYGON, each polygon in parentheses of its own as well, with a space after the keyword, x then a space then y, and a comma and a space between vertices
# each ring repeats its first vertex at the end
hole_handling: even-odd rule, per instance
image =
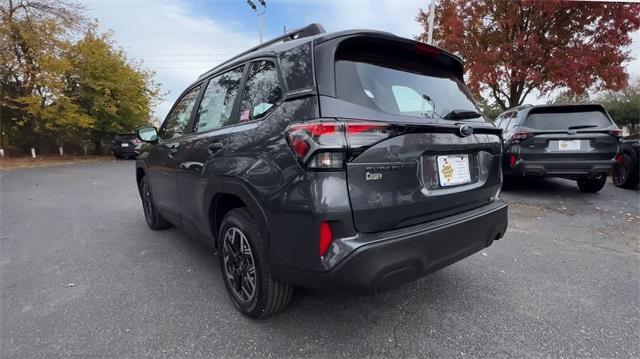
POLYGON ((307 168, 343 169, 349 153, 357 153, 391 137, 391 126, 380 122, 318 120, 290 126, 291 151, 307 168))

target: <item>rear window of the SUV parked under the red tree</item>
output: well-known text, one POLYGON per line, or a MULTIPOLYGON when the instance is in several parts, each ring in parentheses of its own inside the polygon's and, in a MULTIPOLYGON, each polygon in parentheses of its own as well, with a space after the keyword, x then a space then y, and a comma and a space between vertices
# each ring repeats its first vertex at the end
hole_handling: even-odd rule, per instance
POLYGON ((611 121, 597 108, 542 108, 531 110, 523 125, 535 130, 564 131, 606 128, 611 126, 611 121))

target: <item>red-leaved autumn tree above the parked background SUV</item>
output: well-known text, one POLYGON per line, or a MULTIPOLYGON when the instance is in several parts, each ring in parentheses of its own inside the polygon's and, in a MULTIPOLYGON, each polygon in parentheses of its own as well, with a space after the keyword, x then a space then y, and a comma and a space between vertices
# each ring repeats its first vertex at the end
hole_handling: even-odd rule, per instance
MULTIPOLYGON (((640 28, 640 5, 562 0, 440 0, 435 44, 466 60, 471 90, 502 109, 569 88, 624 88, 629 33, 640 28)), ((425 33, 428 12, 417 21, 425 33)))

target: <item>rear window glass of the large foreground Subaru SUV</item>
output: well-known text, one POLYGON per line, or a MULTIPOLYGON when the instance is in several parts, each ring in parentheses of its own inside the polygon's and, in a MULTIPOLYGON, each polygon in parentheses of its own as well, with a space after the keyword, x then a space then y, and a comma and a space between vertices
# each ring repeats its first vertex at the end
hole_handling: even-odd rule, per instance
POLYGON ((479 112, 465 84, 452 72, 428 61, 408 63, 405 58, 394 64, 389 56, 380 62, 371 57, 337 60, 338 98, 391 115, 442 119, 453 110, 479 112))

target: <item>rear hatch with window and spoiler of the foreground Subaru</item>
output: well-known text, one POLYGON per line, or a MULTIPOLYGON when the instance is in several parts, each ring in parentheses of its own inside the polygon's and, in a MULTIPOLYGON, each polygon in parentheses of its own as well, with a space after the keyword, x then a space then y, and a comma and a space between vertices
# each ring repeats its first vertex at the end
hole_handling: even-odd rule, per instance
POLYGON ((323 94, 331 86, 318 78, 320 110, 348 124, 356 229, 410 226, 493 201, 501 186, 500 130, 477 113, 461 61, 397 37, 339 41, 332 44, 335 93, 323 94))

